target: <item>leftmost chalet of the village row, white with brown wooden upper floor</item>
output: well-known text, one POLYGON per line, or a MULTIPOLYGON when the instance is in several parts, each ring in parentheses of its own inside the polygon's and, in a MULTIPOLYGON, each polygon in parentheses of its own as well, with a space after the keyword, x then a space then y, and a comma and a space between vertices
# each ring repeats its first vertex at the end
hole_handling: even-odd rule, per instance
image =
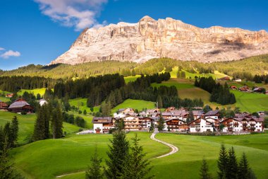
POLYGON ((109 130, 114 127, 113 117, 93 117, 94 133, 109 133, 109 130))

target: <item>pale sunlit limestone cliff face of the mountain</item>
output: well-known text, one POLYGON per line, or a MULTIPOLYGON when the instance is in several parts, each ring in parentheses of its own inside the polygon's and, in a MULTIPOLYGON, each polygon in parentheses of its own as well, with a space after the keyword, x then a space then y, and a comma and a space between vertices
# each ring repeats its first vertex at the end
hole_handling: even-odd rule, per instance
POLYGON ((138 23, 85 29, 51 64, 119 60, 145 62, 171 57, 199 62, 236 60, 268 53, 268 33, 240 28, 197 28, 172 18, 145 16, 138 23))

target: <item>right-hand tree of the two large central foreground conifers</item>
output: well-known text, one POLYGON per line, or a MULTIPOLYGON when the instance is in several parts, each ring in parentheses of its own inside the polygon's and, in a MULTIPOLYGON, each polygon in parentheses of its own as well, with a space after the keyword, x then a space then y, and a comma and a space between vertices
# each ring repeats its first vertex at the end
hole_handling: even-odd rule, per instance
POLYGON ((143 179, 154 178, 154 175, 148 175, 152 171, 150 161, 145 159, 146 154, 143 153, 142 146, 139 146, 138 135, 135 134, 133 146, 130 147, 130 154, 124 162, 123 173, 120 178, 122 179, 143 179))

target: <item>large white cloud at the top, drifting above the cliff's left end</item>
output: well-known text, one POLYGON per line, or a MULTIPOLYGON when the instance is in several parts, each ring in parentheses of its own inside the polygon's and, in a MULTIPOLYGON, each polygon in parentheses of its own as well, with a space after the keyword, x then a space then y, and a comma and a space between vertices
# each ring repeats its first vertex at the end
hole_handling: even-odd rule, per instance
POLYGON ((67 27, 82 30, 99 26, 96 16, 108 0, 35 0, 42 13, 67 27))

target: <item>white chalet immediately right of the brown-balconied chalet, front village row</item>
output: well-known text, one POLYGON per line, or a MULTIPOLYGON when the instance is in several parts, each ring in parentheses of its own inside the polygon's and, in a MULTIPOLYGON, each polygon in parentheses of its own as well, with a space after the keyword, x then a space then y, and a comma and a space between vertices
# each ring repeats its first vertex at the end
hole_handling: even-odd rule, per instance
POLYGON ((213 124, 203 118, 189 123, 190 132, 213 132, 213 124))

